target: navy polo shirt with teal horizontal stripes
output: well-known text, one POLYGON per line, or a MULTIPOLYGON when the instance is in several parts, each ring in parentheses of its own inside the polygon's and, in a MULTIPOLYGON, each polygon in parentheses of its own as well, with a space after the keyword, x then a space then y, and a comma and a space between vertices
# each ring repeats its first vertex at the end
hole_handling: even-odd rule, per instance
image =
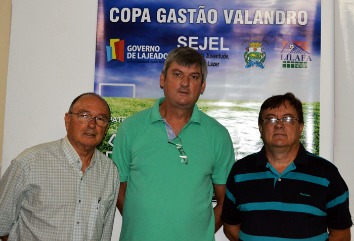
POLYGON ((324 241, 327 227, 352 225, 348 187, 337 168, 301 144, 282 174, 270 165, 264 147, 237 161, 226 187, 222 220, 241 223, 243 241, 324 241))

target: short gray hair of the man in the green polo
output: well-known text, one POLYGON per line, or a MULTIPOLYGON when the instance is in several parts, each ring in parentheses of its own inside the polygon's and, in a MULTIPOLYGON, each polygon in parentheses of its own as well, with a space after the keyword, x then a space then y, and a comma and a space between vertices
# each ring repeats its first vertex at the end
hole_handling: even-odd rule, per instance
POLYGON ((168 53, 168 56, 163 65, 162 74, 166 76, 168 68, 173 62, 177 64, 191 68, 196 65, 202 71, 202 83, 204 83, 206 76, 208 75, 208 66, 204 57, 191 47, 176 47, 174 50, 168 53))

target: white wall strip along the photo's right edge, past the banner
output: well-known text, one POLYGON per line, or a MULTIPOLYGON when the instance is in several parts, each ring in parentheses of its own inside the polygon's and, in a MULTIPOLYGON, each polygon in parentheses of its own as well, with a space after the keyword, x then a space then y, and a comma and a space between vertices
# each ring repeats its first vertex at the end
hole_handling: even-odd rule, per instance
POLYGON ((336 0, 334 10, 334 164, 349 187, 350 213, 354 222, 354 2, 336 0))

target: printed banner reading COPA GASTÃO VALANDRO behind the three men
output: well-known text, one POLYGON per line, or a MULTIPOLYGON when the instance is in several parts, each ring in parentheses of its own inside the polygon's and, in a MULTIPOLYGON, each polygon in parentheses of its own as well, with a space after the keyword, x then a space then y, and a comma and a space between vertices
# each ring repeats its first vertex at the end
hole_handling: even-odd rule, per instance
POLYGON ((197 105, 226 126, 236 158, 259 151, 261 103, 293 92, 304 104, 301 142, 319 153, 321 1, 99 0, 95 92, 112 111, 100 149, 120 123, 163 96, 169 51, 190 46, 208 64, 197 105))

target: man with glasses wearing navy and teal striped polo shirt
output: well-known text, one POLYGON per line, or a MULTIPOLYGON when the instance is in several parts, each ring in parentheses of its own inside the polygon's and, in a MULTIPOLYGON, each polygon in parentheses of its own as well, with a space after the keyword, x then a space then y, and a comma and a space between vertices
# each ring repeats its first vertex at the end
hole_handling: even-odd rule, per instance
POLYGON ((348 188, 337 168, 299 142, 302 104, 292 93, 261 106, 264 146, 237 161, 222 220, 230 240, 350 240, 348 188))

